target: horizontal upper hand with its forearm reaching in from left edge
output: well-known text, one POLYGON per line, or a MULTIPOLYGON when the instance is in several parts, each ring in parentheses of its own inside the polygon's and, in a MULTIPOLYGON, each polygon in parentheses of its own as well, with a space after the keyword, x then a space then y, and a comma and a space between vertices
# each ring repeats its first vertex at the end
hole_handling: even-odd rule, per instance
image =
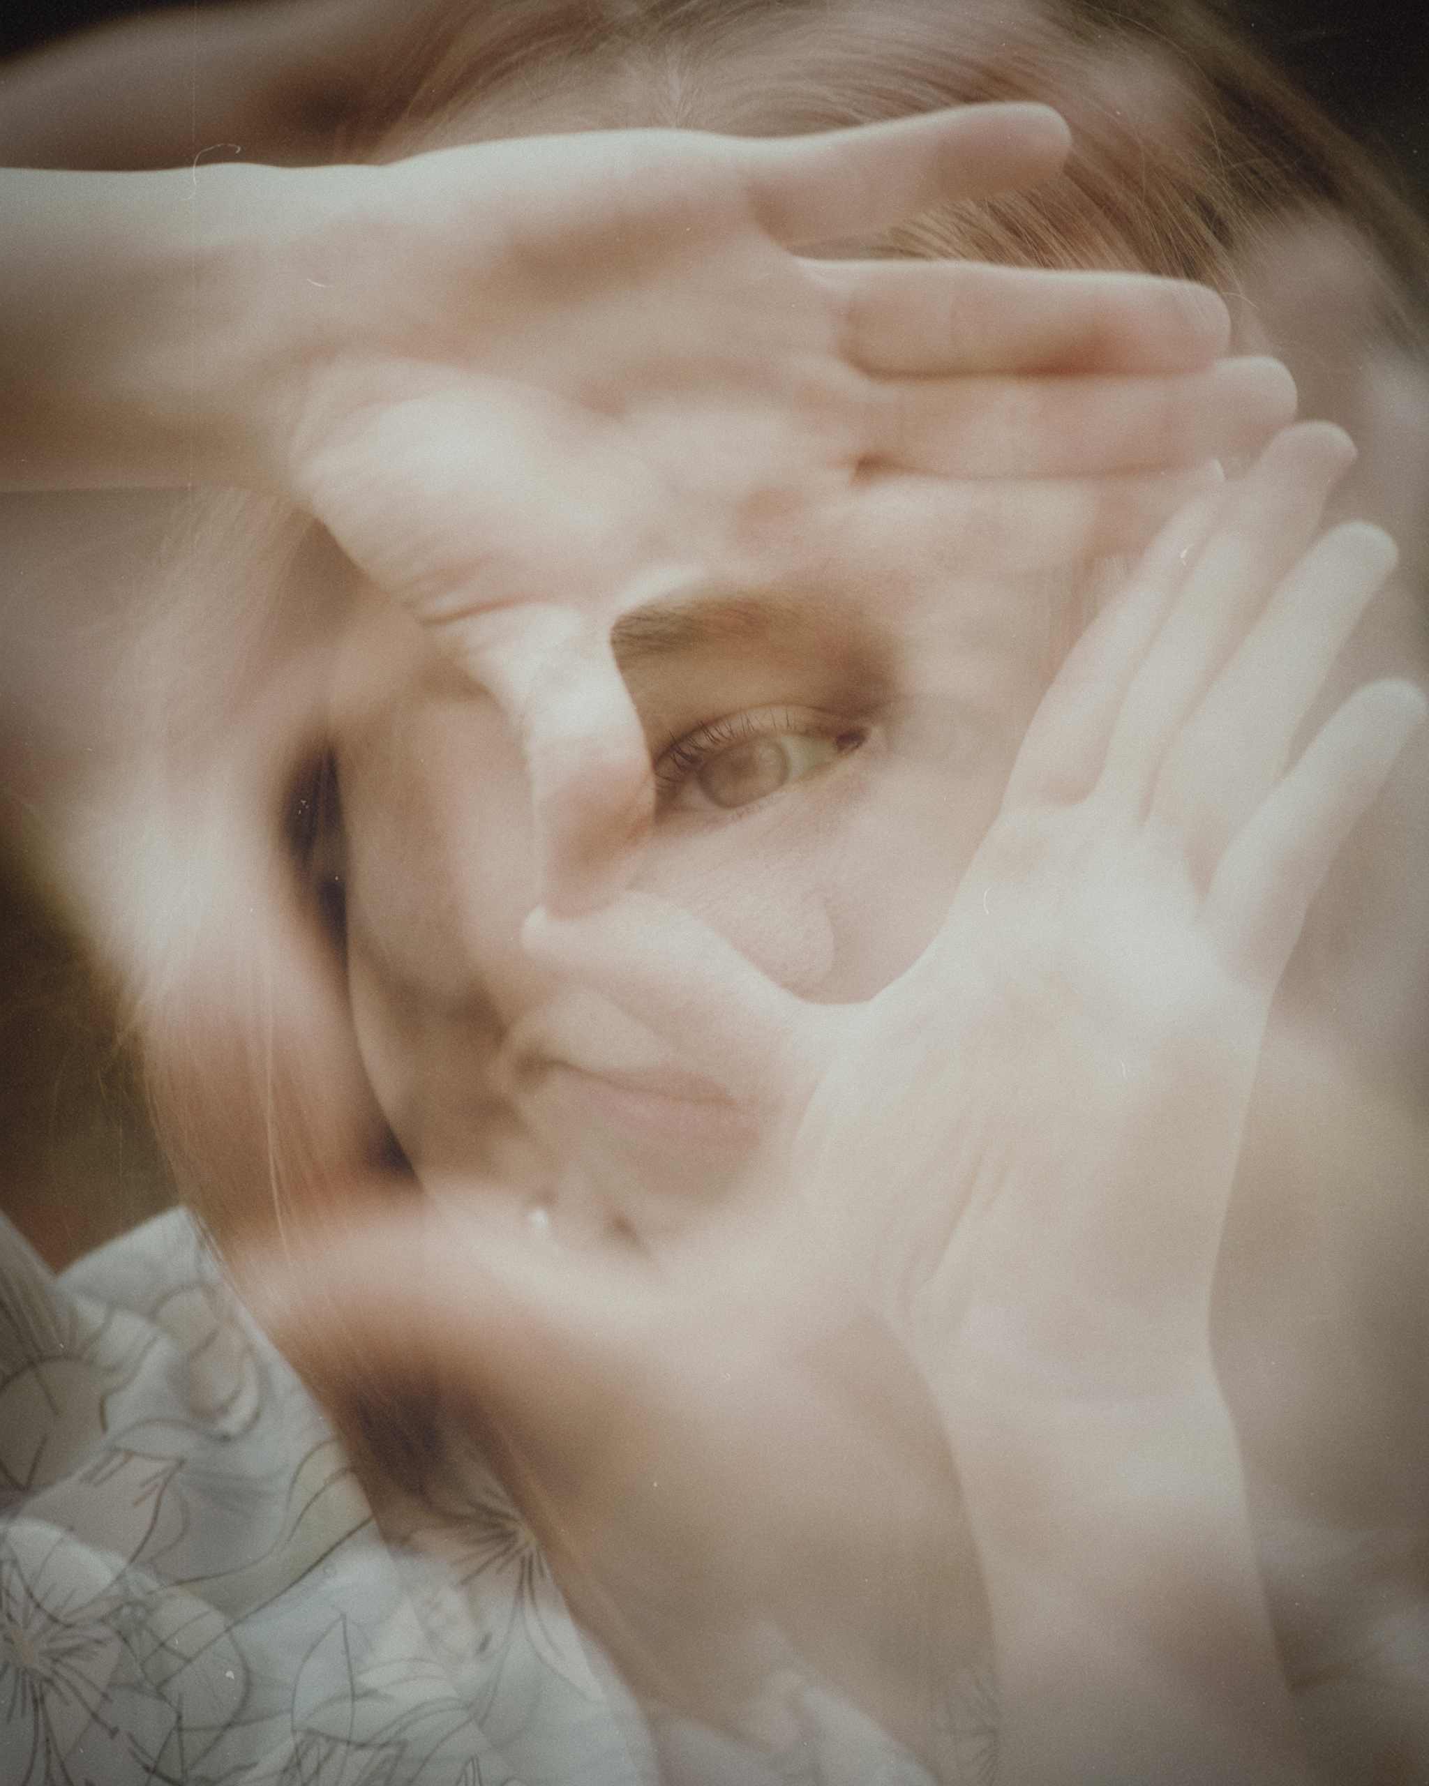
POLYGON ((1065 152, 1056 114, 1011 105, 781 143, 9 173, 2 475, 247 484, 316 514, 497 689, 547 898, 598 904, 650 811, 604 643, 623 609, 752 527, 877 523, 927 475, 931 525, 991 564, 1120 548, 1288 418, 1283 371, 1215 364, 1199 288, 790 252, 1065 152))

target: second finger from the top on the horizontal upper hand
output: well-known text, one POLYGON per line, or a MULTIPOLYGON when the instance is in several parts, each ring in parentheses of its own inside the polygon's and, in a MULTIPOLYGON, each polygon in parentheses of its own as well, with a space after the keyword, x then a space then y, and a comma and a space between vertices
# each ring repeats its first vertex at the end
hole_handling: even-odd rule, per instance
POLYGON ((1177 373, 1225 352, 1208 286, 966 261, 806 261, 838 307, 845 352, 875 373, 1177 373))

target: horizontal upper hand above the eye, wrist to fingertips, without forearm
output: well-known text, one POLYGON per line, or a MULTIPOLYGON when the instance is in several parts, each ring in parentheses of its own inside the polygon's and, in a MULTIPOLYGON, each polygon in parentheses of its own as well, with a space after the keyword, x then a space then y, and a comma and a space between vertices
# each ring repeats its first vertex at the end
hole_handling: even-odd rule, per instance
POLYGON ((284 479, 506 707, 552 907, 607 898, 652 811, 620 613, 781 534, 907 525, 907 479, 940 480, 920 523, 965 563, 1140 545, 1197 466, 1288 420, 1277 368, 1211 364, 1224 313, 1197 288, 790 252, 1065 148, 1034 105, 616 132, 336 170, 298 207, 284 479))

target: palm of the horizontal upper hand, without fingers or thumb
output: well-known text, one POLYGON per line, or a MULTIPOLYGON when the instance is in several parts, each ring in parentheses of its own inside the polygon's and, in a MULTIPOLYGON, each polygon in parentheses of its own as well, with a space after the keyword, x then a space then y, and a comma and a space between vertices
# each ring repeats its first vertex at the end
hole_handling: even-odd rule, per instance
MULTIPOLYGON (((386 171, 429 218, 464 154, 386 171)), ((395 314, 332 368, 298 446, 355 563, 477 670, 482 616, 536 602, 607 634, 638 572, 679 577, 756 489, 847 479, 866 430, 827 304, 711 139, 481 154, 468 254, 423 243, 409 273, 422 336, 395 314)))

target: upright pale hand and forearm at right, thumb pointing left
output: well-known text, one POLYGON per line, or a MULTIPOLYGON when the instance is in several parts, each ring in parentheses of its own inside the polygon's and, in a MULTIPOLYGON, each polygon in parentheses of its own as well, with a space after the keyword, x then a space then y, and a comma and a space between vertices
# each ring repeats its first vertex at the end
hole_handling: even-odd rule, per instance
POLYGON ((740 1097, 791 1104, 779 1172, 947 1423, 1009 1779, 1299 1777, 1209 1297, 1270 997, 1424 718, 1375 684, 1286 768, 1393 566, 1375 529, 1315 541, 1349 457, 1291 430, 1163 534, 1049 693, 940 936, 866 1006, 800 1006, 638 895, 529 927, 740 1097))

